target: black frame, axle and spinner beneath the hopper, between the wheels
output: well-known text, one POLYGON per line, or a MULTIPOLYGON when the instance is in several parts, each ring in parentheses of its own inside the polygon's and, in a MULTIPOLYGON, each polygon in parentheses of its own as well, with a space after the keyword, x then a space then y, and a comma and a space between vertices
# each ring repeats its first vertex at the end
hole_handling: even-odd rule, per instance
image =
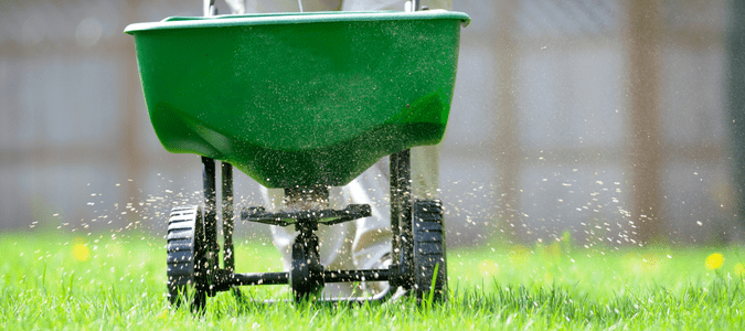
MULTIPOLYGON (((233 168, 230 163, 221 163, 222 177, 222 228, 224 236, 223 268, 220 268, 217 242, 217 204, 215 188, 215 161, 202 157, 204 184, 204 227, 207 248, 206 292, 214 296, 219 291, 230 290, 237 286, 253 285, 290 285, 296 300, 302 300, 320 292, 327 282, 353 281, 389 281, 391 288, 411 289, 414 285, 414 246, 412 223, 412 181, 411 151, 404 150, 390 156, 391 170, 391 228, 393 264, 387 269, 324 270, 318 253, 318 237, 313 231, 318 224, 338 224, 371 216, 370 205, 349 205, 344 210, 317 210, 294 213, 266 213, 263 207, 249 207, 241 212, 243 221, 274 225, 291 225, 300 234, 292 243, 292 266, 289 273, 235 273, 233 254, 233 168)), ((323 190, 321 190, 323 191, 323 190)), ((300 191, 295 190, 296 194, 300 191)), ((326 191, 328 195, 328 191, 326 191)), ((372 298, 321 299, 322 301, 383 301, 390 292, 379 293, 372 298)))

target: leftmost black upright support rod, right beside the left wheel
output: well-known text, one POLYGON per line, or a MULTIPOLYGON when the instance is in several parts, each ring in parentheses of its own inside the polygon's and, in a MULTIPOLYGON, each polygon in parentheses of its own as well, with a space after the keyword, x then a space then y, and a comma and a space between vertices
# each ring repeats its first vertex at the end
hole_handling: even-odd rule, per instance
POLYGON ((213 268, 217 266, 220 245, 217 244, 217 211, 215 188, 215 160, 202 157, 202 184, 204 185, 204 236, 207 244, 207 260, 213 268))

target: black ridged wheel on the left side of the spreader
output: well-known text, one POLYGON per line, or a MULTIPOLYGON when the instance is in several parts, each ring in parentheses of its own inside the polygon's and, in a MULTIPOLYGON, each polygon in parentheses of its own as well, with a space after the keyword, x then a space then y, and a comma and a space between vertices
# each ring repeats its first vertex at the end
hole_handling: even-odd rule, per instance
POLYGON ((168 218, 168 300, 199 310, 206 301, 204 218, 198 205, 178 206, 168 218))

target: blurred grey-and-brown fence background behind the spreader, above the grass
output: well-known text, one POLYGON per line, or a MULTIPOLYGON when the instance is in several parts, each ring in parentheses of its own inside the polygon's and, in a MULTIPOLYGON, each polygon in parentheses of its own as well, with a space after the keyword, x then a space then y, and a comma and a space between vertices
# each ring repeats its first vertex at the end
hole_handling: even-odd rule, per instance
MULTIPOLYGON (((448 244, 744 238, 742 2, 454 9, 472 22, 441 152, 448 244)), ((160 146, 123 30, 201 11, 198 0, 0 0, 0 231, 162 235, 174 203, 199 202, 199 157, 160 146)), ((237 174, 238 206, 259 205, 257 188, 237 174)), ((269 239, 263 225, 236 233, 269 239)))

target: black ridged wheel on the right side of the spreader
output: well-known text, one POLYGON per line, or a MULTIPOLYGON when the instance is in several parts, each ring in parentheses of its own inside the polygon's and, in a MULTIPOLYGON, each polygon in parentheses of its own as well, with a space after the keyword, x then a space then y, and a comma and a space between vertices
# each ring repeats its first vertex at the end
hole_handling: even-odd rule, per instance
POLYGON ((443 300, 447 288, 447 263, 445 254, 445 226, 443 204, 439 200, 415 201, 414 218, 414 290, 417 298, 443 300))

